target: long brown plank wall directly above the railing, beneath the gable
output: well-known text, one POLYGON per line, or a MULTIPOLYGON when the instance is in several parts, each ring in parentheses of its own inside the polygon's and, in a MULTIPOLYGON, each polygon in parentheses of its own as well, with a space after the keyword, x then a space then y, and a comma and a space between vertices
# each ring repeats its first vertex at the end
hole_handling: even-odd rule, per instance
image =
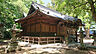
MULTIPOLYGON (((36 23, 36 24, 25 24, 23 27, 23 33, 25 34, 36 34, 36 33, 56 33, 56 25, 51 25, 48 23, 36 23)), ((50 34, 47 34, 50 35, 50 34)))

